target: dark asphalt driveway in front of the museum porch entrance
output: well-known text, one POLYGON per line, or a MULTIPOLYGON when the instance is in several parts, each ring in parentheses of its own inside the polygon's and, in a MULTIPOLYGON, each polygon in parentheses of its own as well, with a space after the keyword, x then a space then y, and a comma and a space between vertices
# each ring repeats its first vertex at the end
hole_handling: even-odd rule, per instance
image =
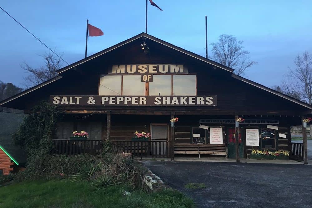
POLYGON ((227 162, 144 161, 198 207, 312 207, 312 166, 227 162), (205 189, 186 189, 205 183, 205 189))

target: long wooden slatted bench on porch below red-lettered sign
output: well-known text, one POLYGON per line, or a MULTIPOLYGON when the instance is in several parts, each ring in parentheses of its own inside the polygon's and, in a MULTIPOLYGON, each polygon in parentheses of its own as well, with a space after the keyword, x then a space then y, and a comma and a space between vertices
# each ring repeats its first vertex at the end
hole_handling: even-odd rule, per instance
POLYGON ((174 154, 194 155, 225 155, 227 158, 227 149, 225 144, 174 144, 174 154))

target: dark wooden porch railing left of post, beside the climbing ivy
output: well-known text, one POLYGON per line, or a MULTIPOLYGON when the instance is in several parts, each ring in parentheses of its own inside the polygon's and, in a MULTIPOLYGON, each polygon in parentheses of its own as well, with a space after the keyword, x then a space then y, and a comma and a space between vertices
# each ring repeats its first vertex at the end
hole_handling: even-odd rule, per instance
POLYGON ((102 151, 102 140, 68 140, 53 139, 54 154, 77 155, 81 153, 89 153, 92 155, 102 151))

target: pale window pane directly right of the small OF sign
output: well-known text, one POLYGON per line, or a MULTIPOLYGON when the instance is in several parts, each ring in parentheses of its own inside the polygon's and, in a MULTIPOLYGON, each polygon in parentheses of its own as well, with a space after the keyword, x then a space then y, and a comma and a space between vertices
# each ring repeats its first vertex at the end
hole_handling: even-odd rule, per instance
POLYGON ((149 95, 171 95, 171 75, 153 75, 149 82, 149 95))

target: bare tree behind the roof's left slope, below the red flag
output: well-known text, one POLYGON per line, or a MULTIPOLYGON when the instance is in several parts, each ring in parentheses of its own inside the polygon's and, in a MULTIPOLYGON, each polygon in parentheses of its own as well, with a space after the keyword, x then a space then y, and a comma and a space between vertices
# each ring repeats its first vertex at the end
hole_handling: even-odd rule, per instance
POLYGON ((21 64, 22 69, 29 74, 24 78, 26 81, 25 86, 28 88, 56 77, 56 70, 61 68, 61 58, 53 53, 45 54, 41 57, 44 58, 45 65, 39 68, 32 68, 26 62, 21 64))

